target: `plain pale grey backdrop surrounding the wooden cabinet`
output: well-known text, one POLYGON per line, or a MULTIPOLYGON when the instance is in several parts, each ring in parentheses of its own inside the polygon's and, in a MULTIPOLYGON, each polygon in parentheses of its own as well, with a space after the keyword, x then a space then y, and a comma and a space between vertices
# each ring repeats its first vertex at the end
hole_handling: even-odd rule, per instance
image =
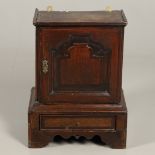
POLYGON ((0 0, 0 154, 155 154, 154 0, 0 0), (45 10, 123 9, 128 19, 124 43, 123 89, 128 107, 127 149, 86 142, 27 148, 27 109, 34 86, 35 8, 45 10))

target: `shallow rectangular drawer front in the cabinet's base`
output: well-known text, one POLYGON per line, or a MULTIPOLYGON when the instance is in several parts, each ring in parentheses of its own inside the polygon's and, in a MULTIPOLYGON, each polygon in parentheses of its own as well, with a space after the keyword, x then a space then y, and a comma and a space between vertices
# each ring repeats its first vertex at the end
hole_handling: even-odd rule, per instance
POLYGON ((115 117, 40 115, 40 130, 46 129, 111 129, 115 128, 115 117))

